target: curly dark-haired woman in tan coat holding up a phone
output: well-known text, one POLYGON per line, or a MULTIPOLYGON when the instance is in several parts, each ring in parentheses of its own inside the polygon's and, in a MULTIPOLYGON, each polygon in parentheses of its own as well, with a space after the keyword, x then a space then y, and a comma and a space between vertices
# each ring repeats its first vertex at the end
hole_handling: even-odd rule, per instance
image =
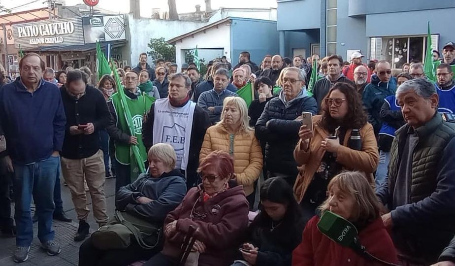
POLYGON ((322 115, 313 117, 313 129, 303 125, 294 149, 299 175, 294 195, 305 220, 315 215, 326 198, 327 185, 342 170, 362 171, 373 185, 379 161, 373 127, 352 84, 335 83, 324 98, 322 115))

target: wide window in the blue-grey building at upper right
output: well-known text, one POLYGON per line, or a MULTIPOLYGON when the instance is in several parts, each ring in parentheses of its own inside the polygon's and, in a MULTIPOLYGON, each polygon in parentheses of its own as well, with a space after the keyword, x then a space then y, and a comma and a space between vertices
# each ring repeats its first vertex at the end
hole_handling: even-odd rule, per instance
MULTIPOLYGON (((439 34, 431 35, 432 48, 438 49, 439 34)), ((392 68, 402 68, 405 63, 424 62, 426 35, 412 37, 375 37, 370 39, 371 59, 386 60, 392 68)))

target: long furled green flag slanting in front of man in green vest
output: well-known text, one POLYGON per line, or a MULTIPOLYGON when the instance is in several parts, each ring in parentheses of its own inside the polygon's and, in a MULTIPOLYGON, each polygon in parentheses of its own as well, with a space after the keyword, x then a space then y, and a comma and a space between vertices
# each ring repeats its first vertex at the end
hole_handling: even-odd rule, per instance
MULTIPOLYGON (((104 59, 104 61, 106 62, 106 58, 104 57, 104 55, 101 54, 101 56, 104 59)), ((100 62, 102 62, 102 59, 100 62)), ((114 80, 115 80, 115 84, 117 87, 117 92, 120 96, 120 102, 122 103, 123 110, 125 110, 125 120, 127 121, 128 128, 130 129, 130 135, 135 136, 136 134, 134 133, 134 126, 132 123, 130 108, 128 108, 127 99, 125 96, 122 82, 120 82, 119 73, 117 73, 117 70, 115 69, 115 66, 112 63, 112 61, 110 63, 111 63, 110 66, 111 66, 112 72, 114 73, 114 80)), ((106 64, 107 64, 107 62, 106 62, 106 64)), ((107 65, 107 66, 109 66, 109 65, 107 65)), ((109 71, 109 73, 110 73, 110 71, 109 71)), ((118 114, 118 115, 120 115, 120 114, 118 114)), ((139 152, 139 148, 136 145, 130 146, 130 156, 131 156, 131 160, 130 160, 131 177, 134 175, 137 177, 137 175, 139 173, 145 173, 144 161, 142 160, 140 152, 139 152)))

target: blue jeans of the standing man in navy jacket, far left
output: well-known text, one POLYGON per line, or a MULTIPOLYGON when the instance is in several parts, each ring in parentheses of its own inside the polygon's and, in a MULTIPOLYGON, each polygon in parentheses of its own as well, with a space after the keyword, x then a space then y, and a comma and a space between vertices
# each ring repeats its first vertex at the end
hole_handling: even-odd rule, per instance
POLYGON ((54 189, 60 157, 49 157, 29 165, 13 165, 14 198, 17 234, 16 245, 27 247, 32 244, 33 224, 30 211, 32 196, 37 206, 38 239, 46 242, 54 239, 52 214, 55 209, 54 189))

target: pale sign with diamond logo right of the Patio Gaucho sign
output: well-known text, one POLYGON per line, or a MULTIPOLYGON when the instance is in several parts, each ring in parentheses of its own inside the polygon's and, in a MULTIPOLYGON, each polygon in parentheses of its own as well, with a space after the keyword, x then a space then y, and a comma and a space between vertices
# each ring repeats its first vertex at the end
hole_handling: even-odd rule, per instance
POLYGON ((85 43, 126 39, 123 15, 85 17, 82 24, 85 43))

